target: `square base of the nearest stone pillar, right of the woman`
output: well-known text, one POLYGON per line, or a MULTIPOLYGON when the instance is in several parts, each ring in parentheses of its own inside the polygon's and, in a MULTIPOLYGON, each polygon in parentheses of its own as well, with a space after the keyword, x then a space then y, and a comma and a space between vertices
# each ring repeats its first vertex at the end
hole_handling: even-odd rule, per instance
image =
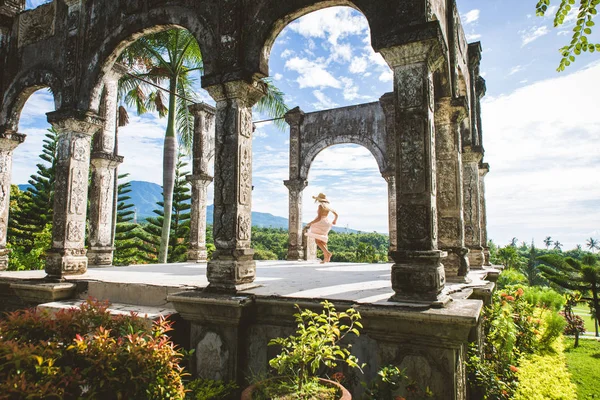
POLYGON ((415 303, 426 307, 444 307, 450 297, 442 293, 446 275, 442 259, 444 251, 396 251, 392 258, 392 288, 390 301, 415 303))

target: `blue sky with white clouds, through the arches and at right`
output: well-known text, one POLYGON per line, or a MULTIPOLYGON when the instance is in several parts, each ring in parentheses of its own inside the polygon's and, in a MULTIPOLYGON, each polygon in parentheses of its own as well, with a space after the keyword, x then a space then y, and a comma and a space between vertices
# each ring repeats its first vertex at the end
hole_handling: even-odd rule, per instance
MULTIPOLYGON (((570 41, 572 26, 555 29, 551 17, 536 17, 534 0, 459 0, 458 5, 467 39, 483 45, 489 237, 500 244, 512 237, 534 239, 542 246, 552 236, 565 248, 600 237, 600 114, 595 98, 600 57, 582 55, 558 74, 557 49, 570 41)), ((366 19, 347 7, 317 11, 288 25, 273 46, 269 66, 288 105, 306 112, 376 101, 392 90, 389 68, 371 49, 366 19)), ((201 89, 197 94, 211 102, 201 89)), ((52 109, 52 97, 44 91, 27 102, 20 131, 28 139, 15 150, 13 182, 26 182, 35 171, 47 127, 44 113, 52 109)), ((121 172, 160 183, 155 160, 162 159, 164 120, 131 114, 131 124, 120 133, 125 156, 121 172)), ((282 181, 288 177, 288 145, 287 131, 272 124, 257 129, 255 211, 287 216, 282 181)), ((387 186, 366 149, 334 146, 317 156, 305 190, 305 221, 315 213, 310 196, 319 192, 332 199, 339 225, 387 231, 387 186)))

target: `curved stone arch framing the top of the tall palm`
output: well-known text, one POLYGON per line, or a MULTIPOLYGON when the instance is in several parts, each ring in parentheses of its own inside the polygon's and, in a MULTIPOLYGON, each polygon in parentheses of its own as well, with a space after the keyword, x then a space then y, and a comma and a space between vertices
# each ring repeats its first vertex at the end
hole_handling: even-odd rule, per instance
POLYGON ((196 13, 182 6, 155 8, 143 13, 134 13, 125 18, 117 29, 106 36, 91 54, 90 68, 83 77, 81 109, 98 111, 104 80, 125 48, 137 39, 170 28, 186 29, 194 35, 204 63, 205 74, 214 68, 217 51, 215 34, 210 24, 196 13))

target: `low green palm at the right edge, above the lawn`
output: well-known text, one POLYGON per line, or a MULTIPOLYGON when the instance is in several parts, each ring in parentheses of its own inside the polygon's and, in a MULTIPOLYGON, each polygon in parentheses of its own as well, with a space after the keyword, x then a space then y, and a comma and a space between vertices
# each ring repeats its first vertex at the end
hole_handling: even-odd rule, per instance
POLYGON ((591 302, 593 317, 596 320, 596 336, 598 336, 598 317, 600 317, 600 266, 595 256, 588 254, 581 261, 574 258, 563 258, 558 254, 538 257, 544 262, 539 266, 542 275, 550 282, 565 289, 592 293, 591 302), (546 265, 547 264, 547 265, 546 265))

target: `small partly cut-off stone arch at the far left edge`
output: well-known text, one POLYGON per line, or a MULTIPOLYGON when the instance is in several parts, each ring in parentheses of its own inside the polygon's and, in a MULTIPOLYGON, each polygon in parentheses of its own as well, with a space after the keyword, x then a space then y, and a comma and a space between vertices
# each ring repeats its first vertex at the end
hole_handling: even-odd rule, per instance
POLYGON ((2 101, 0 121, 4 128, 18 131, 23 106, 36 91, 48 88, 54 96, 54 106, 58 110, 62 102, 62 80, 52 69, 34 66, 17 76, 8 86, 2 101))

